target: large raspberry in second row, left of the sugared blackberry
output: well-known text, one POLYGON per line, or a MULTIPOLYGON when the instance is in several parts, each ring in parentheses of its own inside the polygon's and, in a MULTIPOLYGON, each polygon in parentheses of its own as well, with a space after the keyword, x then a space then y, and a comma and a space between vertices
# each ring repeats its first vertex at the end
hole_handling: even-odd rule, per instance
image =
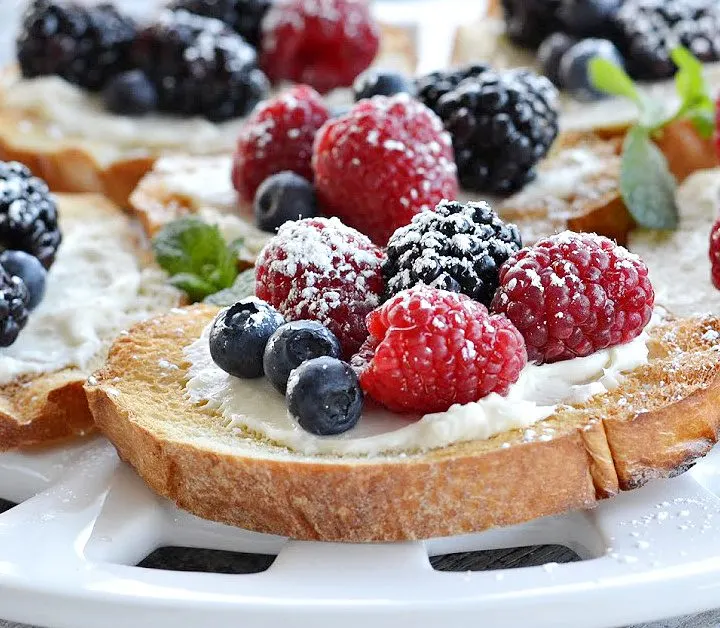
POLYGON ((361 100, 328 122, 313 168, 324 211, 383 246, 415 214, 458 193, 450 136, 407 94, 361 100))

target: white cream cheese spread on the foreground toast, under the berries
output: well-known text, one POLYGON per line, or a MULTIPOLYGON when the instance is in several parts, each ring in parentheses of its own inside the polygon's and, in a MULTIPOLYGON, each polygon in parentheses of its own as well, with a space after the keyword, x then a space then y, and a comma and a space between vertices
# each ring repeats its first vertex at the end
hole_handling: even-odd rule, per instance
POLYGON ((315 436, 288 414, 285 398, 265 379, 228 375, 210 356, 210 326, 185 348, 190 363, 188 399, 219 412, 239 436, 252 435, 313 454, 373 456, 427 451, 501 432, 527 428, 549 417, 558 404, 582 402, 618 386, 623 373, 648 360, 647 330, 632 342, 585 358, 525 367, 505 396, 452 406, 447 412, 408 416, 365 404, 357 426, 339 436, 315 436))

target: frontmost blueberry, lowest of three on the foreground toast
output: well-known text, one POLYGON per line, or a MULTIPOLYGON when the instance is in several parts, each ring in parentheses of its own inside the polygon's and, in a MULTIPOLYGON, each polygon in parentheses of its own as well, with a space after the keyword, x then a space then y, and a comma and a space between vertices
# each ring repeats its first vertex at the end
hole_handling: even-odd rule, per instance
POLYGON ((300 427, 318 436, 347 432, 358 422, 363 406, 355 371, 328 356, 303 362, 290 373, 286 399, 300 427))

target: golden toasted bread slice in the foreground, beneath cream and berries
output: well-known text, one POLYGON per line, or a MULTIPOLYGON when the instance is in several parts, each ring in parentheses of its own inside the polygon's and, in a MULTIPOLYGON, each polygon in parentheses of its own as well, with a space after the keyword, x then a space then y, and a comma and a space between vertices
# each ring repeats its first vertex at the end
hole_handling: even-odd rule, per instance
POLYGON ((304 456, 240 436, 187 399, 183 345, 216 311, 193 306, 138 324, 86 391, 97 424, 154 491, 251 530, 397 541, 590 508, 682 473, 720 428, 720 319, 698 317, 654 327, 648 364, 531 430, 424 453, 304 456))

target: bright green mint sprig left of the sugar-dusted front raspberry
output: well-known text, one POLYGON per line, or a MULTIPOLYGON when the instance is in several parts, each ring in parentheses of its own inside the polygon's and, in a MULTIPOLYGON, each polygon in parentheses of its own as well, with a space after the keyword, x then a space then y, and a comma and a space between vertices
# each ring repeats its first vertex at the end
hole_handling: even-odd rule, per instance
POLYGON ((192 302, 230 288, 237 277, 237 255, 215 225, 187 217, 165 225, 153 238, 155 259, 170 283, 192 302))

